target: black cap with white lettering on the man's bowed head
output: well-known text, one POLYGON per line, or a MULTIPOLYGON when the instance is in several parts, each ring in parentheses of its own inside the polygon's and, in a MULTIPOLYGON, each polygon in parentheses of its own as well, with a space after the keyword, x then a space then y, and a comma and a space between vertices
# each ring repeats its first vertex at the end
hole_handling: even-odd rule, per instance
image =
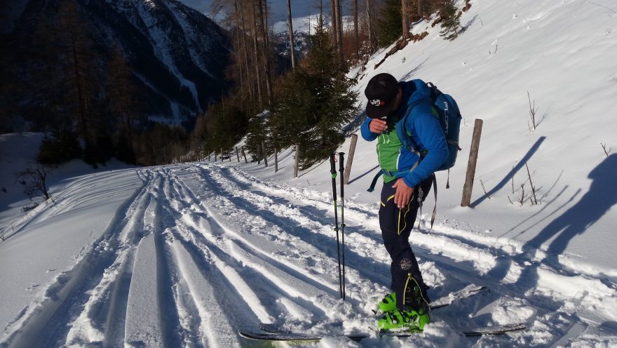
POLYGON ((392 111, 398 95, 398 81, 391 74, 373 76, 364 94, 368 98, 366 113, 372 119, 379 119, 392 111))

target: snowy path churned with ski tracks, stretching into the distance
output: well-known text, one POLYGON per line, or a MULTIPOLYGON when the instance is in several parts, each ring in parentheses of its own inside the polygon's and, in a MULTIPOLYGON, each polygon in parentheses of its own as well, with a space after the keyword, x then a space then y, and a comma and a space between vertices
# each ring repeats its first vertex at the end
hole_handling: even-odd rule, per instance
MULTIPOLYGON (((240 347, 252 343, 238 337, 238 328, 259 322, 334 334, 374 325, 371 309, 390 279, 376 206, 345 202, 343 302, 331 196, 219 164, 137 173, 142 188, 74 267, 4 329, 0 346, 240 347)), ((40 210, 32 220, 113 195, 84 189, 105 178, 77 180, 57 195, 57 209, 40 210)), ((542 250, 444 224, 414 231, 411 239, 433 300, 470 283, 490 291, 435 311, 423 335, 379 344, 433 339, 545 347, 617 340, 611 276, 574 272, 542 250), (466 321, 524 322, 529 330, 501 337, 452 334, 466 321), (443 337, 448 334, 453 337, 443 337)))

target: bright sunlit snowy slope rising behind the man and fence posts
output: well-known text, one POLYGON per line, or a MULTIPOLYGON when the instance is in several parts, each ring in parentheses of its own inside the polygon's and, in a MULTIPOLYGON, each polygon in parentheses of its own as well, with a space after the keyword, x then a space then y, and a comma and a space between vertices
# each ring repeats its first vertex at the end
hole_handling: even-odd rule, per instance
MULTIPOLYGON (((450 173, 457 185, 440 192, 442 202, 452 208, 447 213, 442 209, 442 216, 508 238, 533 240, 543 232, 547 238, 536 239, 534 247, 571 226, 565 233, 571 243, 557 241, 553 248, 565 247, 601 265, 614 265, 611 249, 617 239, 611 232, 617 215, 614 201, 606 195, 617 192, 609 179, 616 174, 615 160, 607 158, 600 145, 608 144, 613 152, 617 148, 617 115, 611 106, 617 93, 616 39, 611 34, 617 15, 610 5, 507 1, 497 6, 477 1, 461 18, 469 27, 459 39, 442 41, 436 29, 418 26, 414 32, 431 32, 427 39, 391 56, 377 70, 367 65, 358 91, 373 74, 391 72, 400 79, 433 81, 459 102, 464 118, 461 165, 450 173), (538 108, 535 131, 529 131, 527 92, 538 108), (460 202, 473 119, 484 119, 476 184, 484 182, 491 199, 475 186, 470 210, 454 207, 460 202), (541 187, 541 207, 515 208, 508 200, 520 198, 520 190, 513 193, 512 185, 517 189, 527 180, 524 164, 534 185, 541 187), (595 189, 598 186, 603 188, 595 189), (597 202, 592 203, 597 210, 577 205, 581 197, 597 202), (562 214, 567 214, 562 226, 543 223, 562 214), (547 221, 551 215, 556 216, 547 221)), ((380 60, 380 55, 374 59, 380 60)), ((362 151, 372 147, 360 144, 362 151)), ((529 185, 526 189, 531 191, 529 185)))

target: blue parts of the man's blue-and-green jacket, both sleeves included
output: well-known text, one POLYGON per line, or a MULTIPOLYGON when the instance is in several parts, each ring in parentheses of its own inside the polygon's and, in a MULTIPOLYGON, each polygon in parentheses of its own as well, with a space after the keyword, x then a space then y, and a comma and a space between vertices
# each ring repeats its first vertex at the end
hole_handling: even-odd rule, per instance
MULTIPOLYGON (((434 114, 433 105, 430 101, 430 89, 426 86, 426 83, 416 79, 399 82, 399 86, 403 91, 401 105, 396 114, 388 115, 388 128, 391 129, 397 121, 409 113, 409 106, 414 104, 415 107, 411 110, 412 114, 407 117, 405 126, 407 132, 411 133, 416 149, 425 152, 426 155, 423 156, 423 159, 413 171, 406 173, 414 166, 418 160, 418 155, 402 147, 398 159, 399 174, 395 178, 403 178, 407 186, 416 187, 422 180, 433 175, 435 170, 447 159, 447 141, 439 119, 434 114)), ((371 121, 372 119, 367 117, 360 127, 362 138, 367 141, 373 141, 379 137, 379 134, 369 130, 371 121)))

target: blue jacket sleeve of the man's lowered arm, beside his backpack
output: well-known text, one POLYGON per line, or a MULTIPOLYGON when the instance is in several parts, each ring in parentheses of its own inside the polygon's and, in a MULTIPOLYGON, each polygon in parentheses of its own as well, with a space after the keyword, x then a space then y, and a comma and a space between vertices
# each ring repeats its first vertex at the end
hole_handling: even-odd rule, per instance
POLYGON ((448 157, 448 146, 437 117, 431 114, 419 114, 413 118, 409 117, 407 121, 409 121, 407 129, 414 129, 424 149, 428 150, 416 169, 403 178, 407 186, 416 187, 444 163, 448 157))

